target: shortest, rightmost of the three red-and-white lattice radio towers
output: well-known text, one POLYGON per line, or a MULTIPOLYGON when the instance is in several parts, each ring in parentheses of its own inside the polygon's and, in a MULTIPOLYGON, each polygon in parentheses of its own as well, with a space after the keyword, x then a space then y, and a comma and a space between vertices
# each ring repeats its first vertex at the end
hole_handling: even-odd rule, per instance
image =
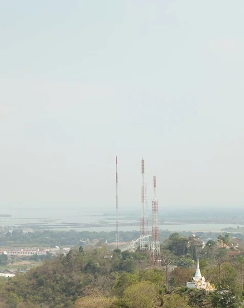
POLYGON ((152 201, 152 241, 151 241, 151 257, 153 264, 160 260, 160 243, 158 229, 158 206, 156 199, 156 177, 153 177, 154 198, 152 201))

